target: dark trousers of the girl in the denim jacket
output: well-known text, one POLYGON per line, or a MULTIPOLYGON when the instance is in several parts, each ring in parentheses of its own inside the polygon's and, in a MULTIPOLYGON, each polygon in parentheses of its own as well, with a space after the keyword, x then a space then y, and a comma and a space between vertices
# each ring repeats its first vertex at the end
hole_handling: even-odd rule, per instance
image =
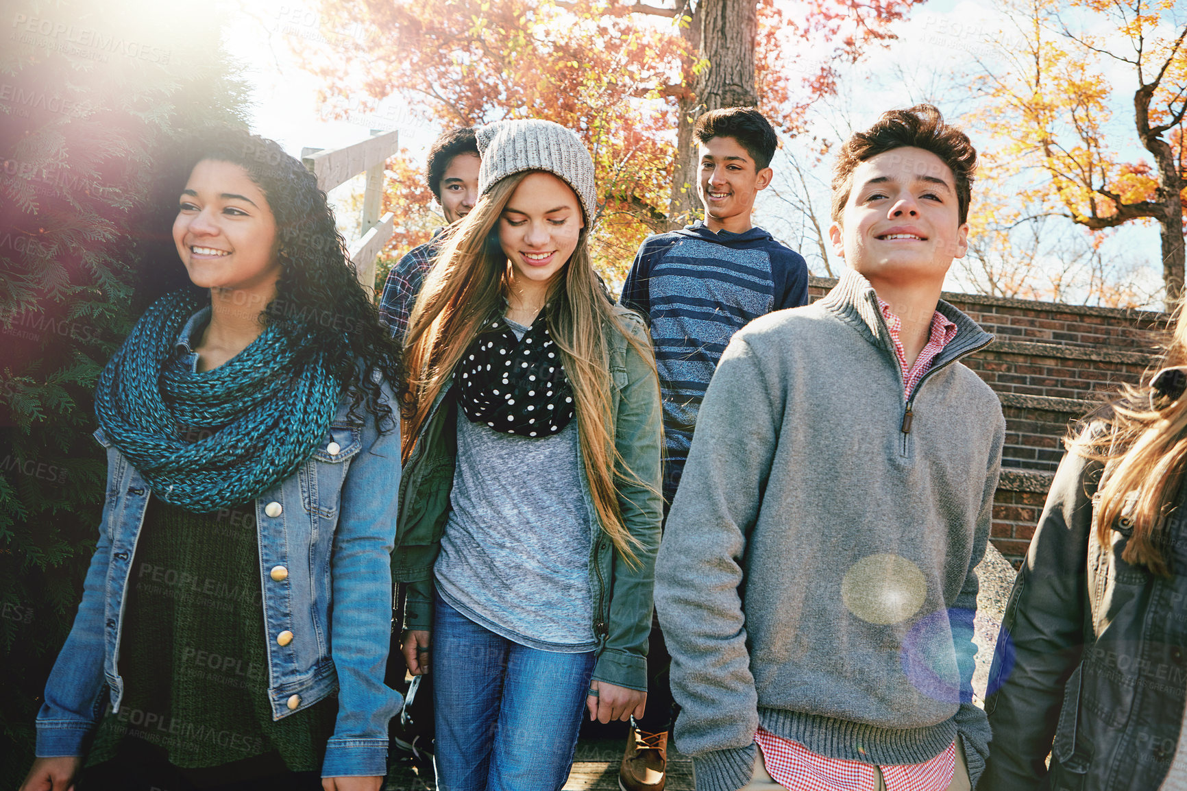
POLYGON ((221 766, 173 766, 154 745, 126 736, 115 757, 80 773, 78 791, 320 791, 320 772, 291 772, 277 753, 221 766))

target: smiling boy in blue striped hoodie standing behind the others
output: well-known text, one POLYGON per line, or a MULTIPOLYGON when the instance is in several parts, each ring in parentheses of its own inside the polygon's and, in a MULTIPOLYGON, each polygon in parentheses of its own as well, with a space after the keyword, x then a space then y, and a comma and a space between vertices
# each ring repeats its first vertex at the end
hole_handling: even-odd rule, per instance
MULTIPOLYGON (((755 197, 773 176, 774 128, 753 107, 729 107, 702 115, 693 135, 705 220, 649 236, 622 289, 622 303, 652 325, 664 396, 665 510, 680 482, 700 400, 734 333, 808 300, 804 258, 750 221, 755 197)), ((664 789, 672 710, 667 664, 655 627, 647 715, 628 735, 620 772, 626 791, 664 789)))

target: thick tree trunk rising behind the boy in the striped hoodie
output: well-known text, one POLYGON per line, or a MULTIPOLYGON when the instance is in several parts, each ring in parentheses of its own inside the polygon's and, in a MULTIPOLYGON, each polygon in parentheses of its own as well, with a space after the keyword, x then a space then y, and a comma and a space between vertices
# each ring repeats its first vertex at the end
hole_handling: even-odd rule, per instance
POLYGON ((758 103, 754 81, 754 50, 758 36, 757 0, 700 0, 685 29, 690 50, 707 65, 692 75, 685 67, 685 81, 693 96, 680 101, 677 127, 677 162, 672 175, 668 221, 680 228, 699 208, 697 198, 696 143, 692 127, 702 113, 721 107, 750 107, 758 103))

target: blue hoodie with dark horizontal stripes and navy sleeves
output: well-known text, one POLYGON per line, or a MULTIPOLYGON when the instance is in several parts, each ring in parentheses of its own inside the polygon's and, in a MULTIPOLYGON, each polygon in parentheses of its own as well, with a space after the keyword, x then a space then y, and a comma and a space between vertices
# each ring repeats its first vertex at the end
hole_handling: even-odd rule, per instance
POLYGON ((664 499, 675 495, 697 411, 734 333, 808 302, 804 258, 762 228, 713 233, 697 223, 648 236, 622 287, 622 304, 652 325, 664 394, 664 499))

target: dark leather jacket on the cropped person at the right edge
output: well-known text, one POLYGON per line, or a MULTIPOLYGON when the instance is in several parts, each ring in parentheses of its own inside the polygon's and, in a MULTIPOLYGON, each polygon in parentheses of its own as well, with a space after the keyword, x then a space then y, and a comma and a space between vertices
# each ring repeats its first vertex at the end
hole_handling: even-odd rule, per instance
POLYGON ((979 791, 1154 791, 1167 773, 1187 688, 1187 487, 1168 525, 1180 572, 1157 577, 1122 559, 1128 518, 1097 539, 1102 473, 1068 454, 1055 474, 997 639, 979 791))

